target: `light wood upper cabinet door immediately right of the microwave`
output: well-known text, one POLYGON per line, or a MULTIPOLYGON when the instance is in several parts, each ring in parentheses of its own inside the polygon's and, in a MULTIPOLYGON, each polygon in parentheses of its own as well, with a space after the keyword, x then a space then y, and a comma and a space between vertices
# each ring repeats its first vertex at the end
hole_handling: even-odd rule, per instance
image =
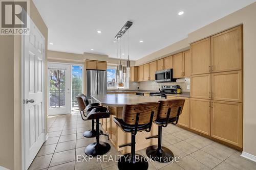
POLYGON ((173 68, 173 78, 183 77, 183 53, 178 53, 173 56, 174 68, 173 68))

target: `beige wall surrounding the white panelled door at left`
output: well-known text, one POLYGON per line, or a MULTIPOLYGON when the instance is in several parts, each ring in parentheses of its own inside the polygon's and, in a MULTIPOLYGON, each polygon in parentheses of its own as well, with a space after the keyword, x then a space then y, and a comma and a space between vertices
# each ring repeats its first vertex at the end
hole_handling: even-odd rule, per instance
MULTIPOLYGON (((32 0, 30 1, 30 17, 45 36, 47 49, 48 29, 32 0)), ((0 84, 0 165, 8 169, 22 169, 21 37, 0 36, 0 46, 0 74, 3 80, 0 84)), ((45 63, 47 63, 47 53, 45 54, 45 63)), ((46 68, 47 64, 45 64, 45 72, 46 68)), ((46 108, 47 106, 45 106, 47 117, 46 108)))

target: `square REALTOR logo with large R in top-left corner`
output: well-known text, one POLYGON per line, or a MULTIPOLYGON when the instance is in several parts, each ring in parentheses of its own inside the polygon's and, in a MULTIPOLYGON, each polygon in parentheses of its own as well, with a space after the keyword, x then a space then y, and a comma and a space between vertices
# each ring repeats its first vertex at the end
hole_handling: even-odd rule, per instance
POLYGON ((1 35, 29 34, 29 1, 1 0, 1 35))

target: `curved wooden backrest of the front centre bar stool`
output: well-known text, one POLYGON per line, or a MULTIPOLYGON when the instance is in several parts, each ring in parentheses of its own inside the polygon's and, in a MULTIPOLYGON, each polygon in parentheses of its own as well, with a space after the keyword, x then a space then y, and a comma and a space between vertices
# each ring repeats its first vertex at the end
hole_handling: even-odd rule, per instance
POLYGON ((148 124, 152 121, 152 113, 154 114, 153 121, 157 118, 158 108, 159 102, 124 105, 122 120, 126 124, 136 125, 136 117, 139 113, 138 125, 148 124))

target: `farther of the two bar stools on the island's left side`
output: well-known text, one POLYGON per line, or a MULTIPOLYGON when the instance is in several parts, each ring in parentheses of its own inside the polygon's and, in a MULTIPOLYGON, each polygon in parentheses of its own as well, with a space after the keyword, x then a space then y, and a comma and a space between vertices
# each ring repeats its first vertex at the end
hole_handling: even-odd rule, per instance
MULTIPOLYGON (((89 104, 89 100, 88 100, 88 98, 87 98, 87 96, 86 95, 84 95, 84 94, 78 94, 78 96, 82 96, 82 101, 83 101, 83 104, 81 103, 81 101, 80 101, 80 103, 78 102, 78 100, 77 100, 77 102, 78 102, 78 107, 79 107, 79 105, 83 108, 83 110, 80 110, 80 107, 79 107, 79 110, 80 110, 80 113, 82 112, 83 113, 83 116, 84 117, 87 117, 87 114, 92 110, 92 109, 94 109, 94 108, 96 108, 96 107, 102 107, 102 106, 100 106, 100 104, 99 103, 91 103, 91 104, 89 104), (84 105, 84 106, 83 106, 84 105), (84 113, 85 112, 85 113, 84 113)), ((82 119, 83 119, 83 117, 82 117, 82 119)), ((83 120, 85 120, 85 119, 83 119, 83 120)), ((103 132, 100 130, 100 135, 102 134, 103 132)), ((92 130, 89 130, 89 131, 84 131, 83 132, 83 134, 82 134, 84 137, 95 137, 96 136, 96 131, 95 131, 95 129, 94 129, 94 120, 92 120, 92 130)))

